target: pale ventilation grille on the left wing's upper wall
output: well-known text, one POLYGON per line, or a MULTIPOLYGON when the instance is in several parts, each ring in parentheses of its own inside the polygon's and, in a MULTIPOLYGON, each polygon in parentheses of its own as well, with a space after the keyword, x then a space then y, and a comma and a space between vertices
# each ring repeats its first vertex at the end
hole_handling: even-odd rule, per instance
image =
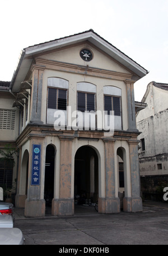
POLYGON ((15 129, 15 110, 0 108, 0 129, 15 129))

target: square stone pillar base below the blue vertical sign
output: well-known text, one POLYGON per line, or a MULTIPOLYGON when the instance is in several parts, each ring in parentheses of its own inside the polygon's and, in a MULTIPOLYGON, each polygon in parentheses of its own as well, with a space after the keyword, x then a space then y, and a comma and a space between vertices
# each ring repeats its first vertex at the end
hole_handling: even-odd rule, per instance
POLYGON ((44 199, 26 199, 25 217, 44 217, 45 200, 44 199))

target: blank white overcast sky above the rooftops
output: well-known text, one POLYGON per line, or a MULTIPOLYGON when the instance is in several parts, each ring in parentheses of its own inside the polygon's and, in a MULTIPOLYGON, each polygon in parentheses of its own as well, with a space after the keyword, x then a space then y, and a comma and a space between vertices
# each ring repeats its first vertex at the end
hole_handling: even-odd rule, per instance
POLYGON ((1 0, 0 80, 11 81, 22 49, 93 29, 149 71, 134 84, 168 84, 168 0, 1 0))

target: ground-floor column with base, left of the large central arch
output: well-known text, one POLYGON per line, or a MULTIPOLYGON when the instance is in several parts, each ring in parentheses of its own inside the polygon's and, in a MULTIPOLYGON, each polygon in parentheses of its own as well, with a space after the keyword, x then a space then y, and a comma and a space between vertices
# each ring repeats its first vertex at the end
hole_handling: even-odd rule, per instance
POLYGON ((71 216, 74 214, 74 199, 71 198, 72 140, 71 136, 59 136, 60 139, 60 179, 59 199, 53 199, 52 215, 71 216))

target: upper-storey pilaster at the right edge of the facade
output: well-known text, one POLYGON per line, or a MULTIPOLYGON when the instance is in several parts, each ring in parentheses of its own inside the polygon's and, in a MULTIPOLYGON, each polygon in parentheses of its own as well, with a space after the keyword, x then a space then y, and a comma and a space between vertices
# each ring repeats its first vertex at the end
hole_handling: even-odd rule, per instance
POLYGON ((127 92, 127 113, 128 113, 128 130, 138 131, 136 127, 136 107, 134 100, 134 83, 132 80, 125 80, 127 92))

